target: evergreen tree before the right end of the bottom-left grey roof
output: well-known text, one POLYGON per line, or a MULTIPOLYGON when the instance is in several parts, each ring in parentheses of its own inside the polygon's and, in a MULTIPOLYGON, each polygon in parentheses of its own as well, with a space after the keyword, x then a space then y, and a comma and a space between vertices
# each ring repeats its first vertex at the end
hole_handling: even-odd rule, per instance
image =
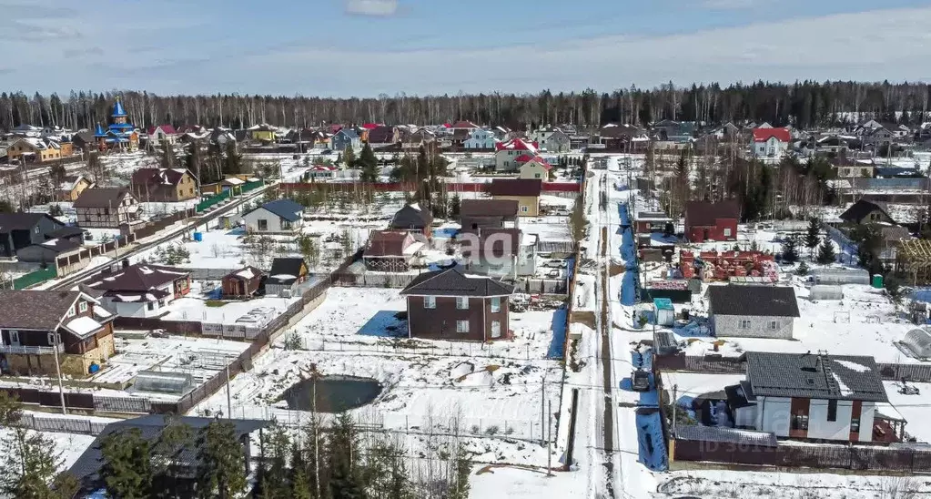
POLYGON ((246 456, 235 427, 213 421, 197 438, 197 495, 202 499, 233 499, 246 488, 246 456))

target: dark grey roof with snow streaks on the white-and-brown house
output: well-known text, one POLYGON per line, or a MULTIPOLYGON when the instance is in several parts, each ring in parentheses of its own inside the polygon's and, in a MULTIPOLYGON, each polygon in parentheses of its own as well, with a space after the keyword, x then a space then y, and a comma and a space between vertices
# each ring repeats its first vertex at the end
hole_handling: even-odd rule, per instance
POLYGON ((747 353, 747 379, 756 397, 887 402, 873 357, 747 353))

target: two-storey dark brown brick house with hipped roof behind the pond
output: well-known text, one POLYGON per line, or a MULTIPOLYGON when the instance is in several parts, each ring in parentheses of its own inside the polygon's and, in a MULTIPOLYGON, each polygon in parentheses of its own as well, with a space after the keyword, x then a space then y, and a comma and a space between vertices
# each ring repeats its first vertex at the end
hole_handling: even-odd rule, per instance
POLYGON ((510 338, 508 298, 514 289, 487 276, 452 267, 420 274, 401 290, 407 298, 408 336, 488 342, 510 338))

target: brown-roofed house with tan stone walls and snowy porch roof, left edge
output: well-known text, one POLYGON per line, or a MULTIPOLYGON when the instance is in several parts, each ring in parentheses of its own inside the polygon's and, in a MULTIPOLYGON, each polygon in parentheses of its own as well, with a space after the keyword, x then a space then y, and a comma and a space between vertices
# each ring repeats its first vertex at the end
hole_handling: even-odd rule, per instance
POLYGON ((85 377, 115 354, 113 315, 80 291, 0 290, 0 371, 85 377))

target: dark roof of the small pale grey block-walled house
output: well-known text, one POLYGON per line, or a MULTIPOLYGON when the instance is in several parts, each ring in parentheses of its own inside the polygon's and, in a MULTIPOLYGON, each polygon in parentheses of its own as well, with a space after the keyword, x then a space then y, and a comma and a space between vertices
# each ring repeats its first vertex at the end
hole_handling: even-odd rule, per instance
POLYGON ((709 286, 712 315, 799 317, 795 291, 781 286, 709 286))

